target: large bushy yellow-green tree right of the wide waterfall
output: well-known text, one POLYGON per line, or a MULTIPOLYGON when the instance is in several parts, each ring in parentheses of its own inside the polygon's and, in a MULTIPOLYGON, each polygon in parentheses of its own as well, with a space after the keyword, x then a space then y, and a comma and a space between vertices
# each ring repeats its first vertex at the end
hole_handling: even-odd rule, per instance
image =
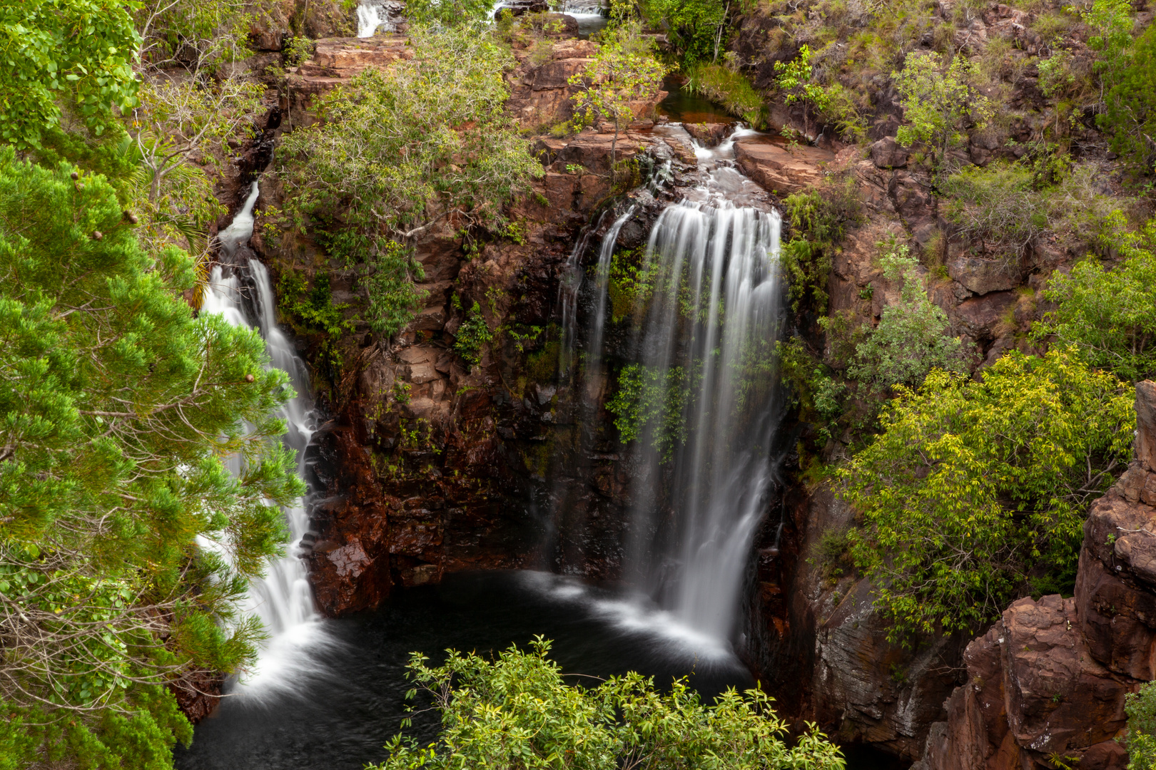
POLYGON ((973 630, 1032 586, 1070 590, 1088 504, 1132 456, 1132 387, 1058 349, 897 390, 838 473, 891 637, 973 630))

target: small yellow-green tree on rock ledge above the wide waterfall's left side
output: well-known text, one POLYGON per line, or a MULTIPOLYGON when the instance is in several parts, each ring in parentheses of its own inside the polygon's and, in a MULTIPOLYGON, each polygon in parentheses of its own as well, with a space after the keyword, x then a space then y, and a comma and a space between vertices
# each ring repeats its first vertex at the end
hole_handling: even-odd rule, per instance
POLYGON ((637 118, 632 104, 653 98, 667 68, 651 53, 651 42, 637 22, 612 30, 586 69, 571 75, 570 84, 581 90, 575 100, 575 130, 592 126, 599 118, 614 122, 610 142, 610 179, 615 179, 618 133, 637 118))

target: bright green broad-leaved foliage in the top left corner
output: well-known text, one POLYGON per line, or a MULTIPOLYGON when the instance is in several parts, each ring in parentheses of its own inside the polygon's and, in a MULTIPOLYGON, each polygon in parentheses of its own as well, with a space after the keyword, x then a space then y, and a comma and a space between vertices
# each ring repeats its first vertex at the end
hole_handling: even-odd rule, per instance
POLYGON ((0 1, 0 137, 39 147, 61 107, 97 135, 136 105, 140 36, 118 0, 0 1))

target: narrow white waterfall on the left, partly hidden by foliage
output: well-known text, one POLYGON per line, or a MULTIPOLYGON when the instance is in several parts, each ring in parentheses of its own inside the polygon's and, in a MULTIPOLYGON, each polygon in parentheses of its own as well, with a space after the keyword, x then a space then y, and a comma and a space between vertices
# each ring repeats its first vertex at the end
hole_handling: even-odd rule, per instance
MULTIPOLYGON (((297 454, 297 472, 304 477, 305 448, 313 434, 312 399, 309 371, 294 352, 289 339, 277 327, 273 286, 265 266, 255 259, 242 261, 237 253, 253 233, 253 204, 258 186, 245 200, 240 212, 217 236, 223 264, 213 268, 201 313, 220 313, 229 323, 257 328, 265 338, 269 366, 289 374, 297 395, 281 412, 288 428, 283 441, 297 454)), ((239 458, 235 458, 238 464, 239 458)), ((239 466, 234 469, 239 471, 239 466)), ((273 561, 262 580, 250 584, 242 606, 246 615, 260 618, 268 640, 260 650, 257 666, 240 679, 244 691, 290 687, 305 666, 301 649, 323 638, 321 616, 313 605, 305 562, 302 560, 302 537, 309 529, 305 501, 298 499, 284 509, 290 544, 284 558, 273 561)))

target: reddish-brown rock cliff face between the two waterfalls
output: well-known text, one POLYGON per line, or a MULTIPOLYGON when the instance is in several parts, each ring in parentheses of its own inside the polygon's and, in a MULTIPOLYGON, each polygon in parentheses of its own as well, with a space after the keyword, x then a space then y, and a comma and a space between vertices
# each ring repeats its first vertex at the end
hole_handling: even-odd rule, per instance
MULTIPOLYGON (((595 50, 585 40, 550 38, 517 50, 512 117, 525 128, 568 120, 575 89, 569 79, 595 50)), ((317 95, 366 67, 388 67, 408 55, 398 36, 318 40, 313 58, 289 75, 282 104, 291 125, 313 119, 309 109, 317 95)), ((602 429, 598 425, 609 420, 584 421, 572 394, 556 384, 558 298, 571 254, 579 264, 596 259, 587 249, 575 252, 576 242, 598 244, 614 219, 601 216, 615 200, 612 147, 617 160, 638 160, 631 184, 657 163, 677 163, 676 156, 694 162, 688 141, 640 133, 653 126, 662 96, 633 105, 640 120, 617 137, 596 128, 569 139, 536 137, 544 174, 534 194, 509 212, 518 232, 472 241, 449 223, 430 231, 416 244, 425 307, 392 341, 361 328, 342 349, 341 371, 320 393, 332 418, 311 449, 314 488, 324 492, 312 511, 316 537, 307 558, 325 613, 375 607, 393 586, 437 582, 454 570, 562 562, 594 576, 616 569, 609 544, 621 540, 623 516, 613 493, 624 477, 610 458, 570 457, 588 447, 583 431, 602 429), (494 339, 472 365, 453 343, 475 304, 494 339), (551 466, 591 462, 606 469, 551 473, 551 466), (547 485, 555 476, 563 480, 547 485), (575 521, 551 519, 557 495, 575 502, 566 514, 575 521)), ((622 188, 620 181, 617 192, 622 188)), ((620 233, 623 246, 642 242, 646 212, 658 208, 647 193, 636 197, 640 219, 620 233)), ((259 216, 279 204, 279 186, 268 179, 259 216)), ((275 276, 328 272, 333 300, 355 299, 314 245, 274 246, 258 230, 253 247, 275 276)), ((578 299, 585 313, 588 298, 578 299)), ((318 354, 310 341, 302 345, 318 354)), ((324 361, 313 362, 325 371, 324 361)))

